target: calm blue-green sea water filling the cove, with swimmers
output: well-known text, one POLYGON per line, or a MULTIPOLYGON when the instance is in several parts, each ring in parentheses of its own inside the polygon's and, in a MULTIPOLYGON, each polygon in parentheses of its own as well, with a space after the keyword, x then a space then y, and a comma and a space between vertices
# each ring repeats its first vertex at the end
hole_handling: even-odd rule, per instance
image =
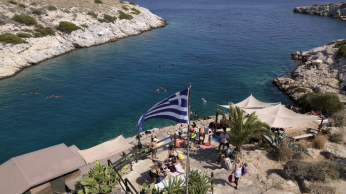
MULTIPOLYGON (((133 136, 148 108, 188 83, 191 109, 200 116, 250 93, 292 104, 271 83, 296 67, 290 53, 346 38, 346 22, 293 12, 295 6, 335 0, 134 2, 169 25, 77 49, 0 80, 0 163, 61 143, 85 149, 133 136), (167 92, 154 92, 160 86, 167 92), (59 98, 44 99, 51 95, 59 98)), ((153 119, 142 131, 171 124, 153 119)))

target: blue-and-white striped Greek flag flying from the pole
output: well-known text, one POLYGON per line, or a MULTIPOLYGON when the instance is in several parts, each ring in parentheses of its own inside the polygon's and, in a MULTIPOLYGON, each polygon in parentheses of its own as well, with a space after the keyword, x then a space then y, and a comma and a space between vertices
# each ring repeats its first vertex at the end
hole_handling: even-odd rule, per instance
POLYGON ((189 89, 186 89, 155 104, 139 118, 136 125, 138 127, 138 133, 142 129, 143 122, 153 118, 170 119, 178 123, 189 123, 188 97, 189 89))

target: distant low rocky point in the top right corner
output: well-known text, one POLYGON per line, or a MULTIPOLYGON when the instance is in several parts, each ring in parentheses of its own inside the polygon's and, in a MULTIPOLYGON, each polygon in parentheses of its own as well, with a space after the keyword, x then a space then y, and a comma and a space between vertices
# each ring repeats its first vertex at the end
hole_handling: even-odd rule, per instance
POLYGON ((293 11, 296 13, 329 16, 346 21, 346 2, 296 7, 293 11))

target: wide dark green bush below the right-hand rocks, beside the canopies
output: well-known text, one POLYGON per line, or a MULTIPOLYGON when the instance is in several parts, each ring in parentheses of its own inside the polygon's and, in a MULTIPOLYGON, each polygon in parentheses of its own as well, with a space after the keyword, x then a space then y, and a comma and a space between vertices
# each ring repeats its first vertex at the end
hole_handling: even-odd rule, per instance
POLYGON ((323 113, 332 116, 339 110, 344 110, 344 103, 339 100, 336 94, 332 93, 307 93, 298 98, 298 105, 303 112, 321 109, 323 113))

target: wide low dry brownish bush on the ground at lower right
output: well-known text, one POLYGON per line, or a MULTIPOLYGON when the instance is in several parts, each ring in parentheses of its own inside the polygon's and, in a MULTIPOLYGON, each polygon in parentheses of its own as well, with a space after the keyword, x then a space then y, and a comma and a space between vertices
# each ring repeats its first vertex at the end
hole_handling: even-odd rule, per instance
POLYGON ((284 166, 284 172, 287 178, 297 181, 326 181, 343 178, 345 170, 331 160, 316 163, 291 160, 284 166))

